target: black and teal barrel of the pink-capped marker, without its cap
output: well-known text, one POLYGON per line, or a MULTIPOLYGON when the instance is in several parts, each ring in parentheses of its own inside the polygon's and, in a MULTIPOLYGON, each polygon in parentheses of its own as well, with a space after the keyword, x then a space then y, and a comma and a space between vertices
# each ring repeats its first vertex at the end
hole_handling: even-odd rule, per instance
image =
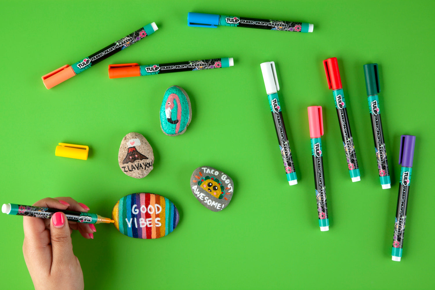
POLYGON ((323 152, 321 138, 311 138, 313 156, 314 186, 317 200, 317 214, 321 231, 329 230, 328 207, 326 205, 325 175, 323 171, 323 152))

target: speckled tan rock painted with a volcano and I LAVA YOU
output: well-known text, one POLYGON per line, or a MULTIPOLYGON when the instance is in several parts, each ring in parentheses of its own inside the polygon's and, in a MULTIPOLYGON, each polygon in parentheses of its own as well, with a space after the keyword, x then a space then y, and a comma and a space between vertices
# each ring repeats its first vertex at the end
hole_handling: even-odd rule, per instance
POLYGON ((143 178, 153 170, 153 148, 147 139, 139 133, 128 133, 119 147, 118 163, 128 176, 143 178))

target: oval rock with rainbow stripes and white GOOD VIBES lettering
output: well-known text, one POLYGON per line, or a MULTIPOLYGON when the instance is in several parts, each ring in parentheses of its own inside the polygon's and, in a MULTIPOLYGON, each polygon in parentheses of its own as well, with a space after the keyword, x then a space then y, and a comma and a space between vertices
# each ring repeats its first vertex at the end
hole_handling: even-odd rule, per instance
POLYGON ((115 227, 124 235, 139 239, 158 239, 171 233, 180 220, 171 200, 154 193, 129 194, 112 210, 115 227))

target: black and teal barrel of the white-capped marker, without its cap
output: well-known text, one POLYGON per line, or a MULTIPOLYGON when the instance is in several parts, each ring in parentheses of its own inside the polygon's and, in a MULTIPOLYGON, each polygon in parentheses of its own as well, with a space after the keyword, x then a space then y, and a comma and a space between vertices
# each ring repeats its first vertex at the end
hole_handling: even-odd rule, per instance
POLYGON ((278 137, 279 148, 281 150, 282 161, 290 185, 298 183, 298 177, 294 171, 293 158, 291 157, 290 146, 288 145, 287 133, 285 131, 284 120, 282 118, 281 106, 279 103, 278 93, 268 95, 269 106, 275 124, 276 136, 278 137))

